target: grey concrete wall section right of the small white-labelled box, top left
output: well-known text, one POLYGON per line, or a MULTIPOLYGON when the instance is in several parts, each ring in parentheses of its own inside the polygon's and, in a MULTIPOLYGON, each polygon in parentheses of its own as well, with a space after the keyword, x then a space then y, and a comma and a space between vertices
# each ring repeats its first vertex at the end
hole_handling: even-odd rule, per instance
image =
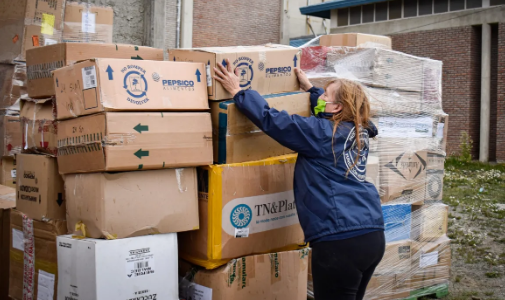
MULTIPOLYGON (((69 2, 81 2, 68 0, 69 2)), ((143 45, 143 0, 89 0, 90 4, 110 6, 114 9, 114 43, 143 45)))

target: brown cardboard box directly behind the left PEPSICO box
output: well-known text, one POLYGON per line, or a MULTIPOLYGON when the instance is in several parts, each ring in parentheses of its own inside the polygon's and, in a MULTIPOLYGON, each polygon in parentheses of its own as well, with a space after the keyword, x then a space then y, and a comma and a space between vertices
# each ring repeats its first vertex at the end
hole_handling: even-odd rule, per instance
MULTIPOLYGON (((32 98, 56 95, 52 78, 53 71, 78 61, 102 57, 163 60, 163 50, 134 45, 96 43, 63 43, 39 47, 26 53, 28 95, 32 98)), ((112 76, 119 76, 119 70, 114 71, 116 73, 112 76)))

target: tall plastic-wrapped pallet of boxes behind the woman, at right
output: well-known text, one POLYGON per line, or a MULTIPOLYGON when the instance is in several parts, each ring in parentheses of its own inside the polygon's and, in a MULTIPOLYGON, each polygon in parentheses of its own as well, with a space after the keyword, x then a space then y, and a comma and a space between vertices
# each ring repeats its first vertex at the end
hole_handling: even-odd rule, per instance
POLYGON ((441 203, 448 123, 442 62, 392 51, 387 40, 343 34, 302 48, 301 67, 314 86, 342 78, 366 87, 379 130, 365 145, 366 177, 381 196, 387 246, 367 299, 440 294, 451 264, 441 203))

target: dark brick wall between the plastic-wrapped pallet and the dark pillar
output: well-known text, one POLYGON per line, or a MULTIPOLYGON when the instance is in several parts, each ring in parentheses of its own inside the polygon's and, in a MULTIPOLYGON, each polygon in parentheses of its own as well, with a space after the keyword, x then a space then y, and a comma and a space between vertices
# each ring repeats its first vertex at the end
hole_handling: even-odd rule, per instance
POLYGON ((462 131, 479 152, 481 28, 465 26, 392 35, 393 49, 444 63, 442 103, 449 114, 447 153, 459 152, 462 131))

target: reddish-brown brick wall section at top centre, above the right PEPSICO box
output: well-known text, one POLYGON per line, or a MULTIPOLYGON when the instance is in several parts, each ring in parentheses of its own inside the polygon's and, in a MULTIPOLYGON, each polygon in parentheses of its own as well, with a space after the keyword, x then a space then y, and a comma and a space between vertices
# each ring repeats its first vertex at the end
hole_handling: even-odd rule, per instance
POLYGON ((193 47, 280 41, 279 0, 199 0, 193 5, 193 47))

